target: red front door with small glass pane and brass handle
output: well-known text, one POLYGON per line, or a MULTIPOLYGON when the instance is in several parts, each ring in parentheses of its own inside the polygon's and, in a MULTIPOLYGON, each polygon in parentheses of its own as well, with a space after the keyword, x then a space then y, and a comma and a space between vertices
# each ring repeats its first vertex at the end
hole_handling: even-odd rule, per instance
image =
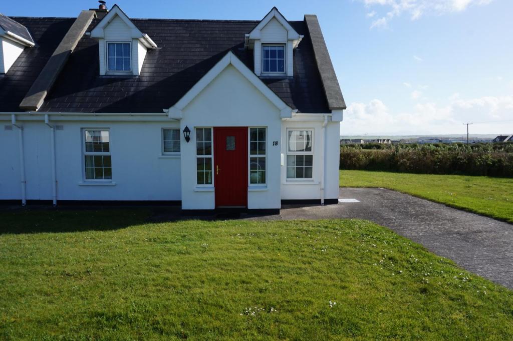
POLYGON ((215 207, 247 207, 247 127, 214 127, 214 186, 215 207))

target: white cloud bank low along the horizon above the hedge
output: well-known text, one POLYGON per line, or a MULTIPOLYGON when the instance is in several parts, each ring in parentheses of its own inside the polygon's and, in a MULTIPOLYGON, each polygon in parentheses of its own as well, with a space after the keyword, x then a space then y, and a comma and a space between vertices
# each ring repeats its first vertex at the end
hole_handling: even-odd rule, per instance
POLYGON ((463 122, 476 122, 472 125, 473 134, 511 133, 512 111, 513 95, 462 99, 454 94, 448 104, 416 103, 411 109, 397 113, 383 101, 373 99, 369 103, 348 106, 341 123, 341 135, 464 134, 463 122))

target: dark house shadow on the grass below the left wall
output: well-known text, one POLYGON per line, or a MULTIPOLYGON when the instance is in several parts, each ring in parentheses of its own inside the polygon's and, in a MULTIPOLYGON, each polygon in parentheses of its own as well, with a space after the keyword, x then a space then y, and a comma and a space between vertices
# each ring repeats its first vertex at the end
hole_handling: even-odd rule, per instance
POLYGON ((108 231, 147 223, 147 208, 17 208, 0 210, 0 235, 108 231))

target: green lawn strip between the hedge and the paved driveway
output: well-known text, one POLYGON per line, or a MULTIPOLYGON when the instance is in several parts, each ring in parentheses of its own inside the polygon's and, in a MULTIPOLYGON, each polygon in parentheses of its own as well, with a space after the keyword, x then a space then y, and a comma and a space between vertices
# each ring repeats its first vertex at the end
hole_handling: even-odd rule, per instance
POLYGON ((342 187, 382 187, 513 223, 513 179, 340 171, 342 187))

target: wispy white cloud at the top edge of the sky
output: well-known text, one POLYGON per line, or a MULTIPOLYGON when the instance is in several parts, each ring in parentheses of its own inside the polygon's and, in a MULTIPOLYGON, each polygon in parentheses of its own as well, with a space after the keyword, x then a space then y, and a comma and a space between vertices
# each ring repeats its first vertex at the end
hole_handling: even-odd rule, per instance
MULTIPOLYGON (((488 5, 494 0, 360 0, 367 7, 380 6, 386 12, 380 18, 374 19, 370 28, 386 27, 388 22, 403 13, 411 20, 417 20, 424 14, 446 14, 462 12, 470 6, 488 5)), ((374 17, 376 11, 372 11, 374 17)))

